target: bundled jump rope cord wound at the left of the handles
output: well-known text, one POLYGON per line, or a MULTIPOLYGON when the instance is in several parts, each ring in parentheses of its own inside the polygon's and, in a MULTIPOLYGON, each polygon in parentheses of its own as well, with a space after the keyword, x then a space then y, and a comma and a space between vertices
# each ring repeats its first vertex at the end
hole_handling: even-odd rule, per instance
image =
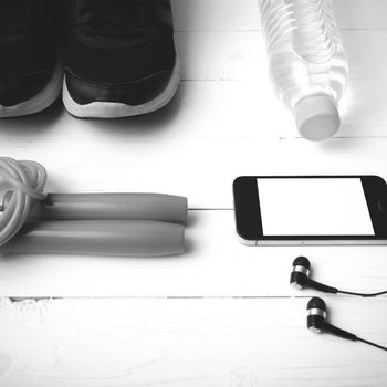
POLYGON ((22 228, 38 200, 44 200, 46 171, 29 160, 0 157, 0 190, 9 200, 0 207, 0 247, 22 228))

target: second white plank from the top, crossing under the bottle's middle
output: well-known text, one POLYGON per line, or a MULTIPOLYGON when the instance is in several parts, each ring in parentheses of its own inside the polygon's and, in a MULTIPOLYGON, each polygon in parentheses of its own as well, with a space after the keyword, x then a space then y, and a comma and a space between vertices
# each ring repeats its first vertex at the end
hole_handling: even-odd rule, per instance
MULTIPOLYGON (((343 31, 342 38, 351 80, 387 79, 387 53, 381 49, 387 31, 343 31)), ((186 81, 259 81, 260 87, 269 84, 266 53, 257 31, 179 32, 176 43, 186 81)))

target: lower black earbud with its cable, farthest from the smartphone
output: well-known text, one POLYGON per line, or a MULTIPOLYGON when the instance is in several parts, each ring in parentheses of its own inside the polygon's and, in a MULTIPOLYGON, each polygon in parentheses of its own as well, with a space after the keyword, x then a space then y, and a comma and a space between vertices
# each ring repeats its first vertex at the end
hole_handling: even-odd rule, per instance
POLYGON ((362 342, 367 345, 372 345, 376 348, 387 351, 387 347, 384 347, 381 345, 357 337, 353 333, 341 330, 337 326, 330 324, 326 321, 326 317, 327 317, 326 304, 324 300, 320 297, 311 299, 310 302, 307 303, 306 311, 307 311, 306 325, 307 325, 307 328, 312 332, 315 332, 315 333, 327 332, 338 337, 351 339, 353 342, 362 342))

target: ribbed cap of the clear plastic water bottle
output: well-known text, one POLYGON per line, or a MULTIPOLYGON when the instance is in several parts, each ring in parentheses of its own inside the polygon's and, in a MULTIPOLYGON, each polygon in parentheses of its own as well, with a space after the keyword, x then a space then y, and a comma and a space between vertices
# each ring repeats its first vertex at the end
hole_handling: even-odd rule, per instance
POLYGON ((328 95, 301 100, 295 107, 295 121, 301 136, 313 142, 332 137, 341 125, 336 104, 328 95))

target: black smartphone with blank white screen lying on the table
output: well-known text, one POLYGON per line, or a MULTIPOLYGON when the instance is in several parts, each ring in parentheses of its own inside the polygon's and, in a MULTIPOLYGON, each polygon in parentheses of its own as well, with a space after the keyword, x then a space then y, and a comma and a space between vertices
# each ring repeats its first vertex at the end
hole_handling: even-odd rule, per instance
POLYGON ((377 176, 245 176, 233 196, 243 244, 387 244, 387 185, 377 176))

